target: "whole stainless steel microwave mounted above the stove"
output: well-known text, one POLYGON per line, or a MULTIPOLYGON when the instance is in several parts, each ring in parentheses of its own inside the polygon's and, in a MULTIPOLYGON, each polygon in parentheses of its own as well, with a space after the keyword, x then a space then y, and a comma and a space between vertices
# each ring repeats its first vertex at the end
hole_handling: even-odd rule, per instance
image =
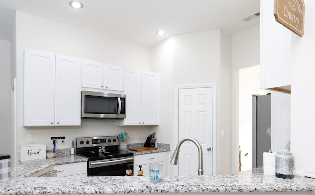
POLYGON ((125 118, 124 94, 81 91, 81 118, 125 118))

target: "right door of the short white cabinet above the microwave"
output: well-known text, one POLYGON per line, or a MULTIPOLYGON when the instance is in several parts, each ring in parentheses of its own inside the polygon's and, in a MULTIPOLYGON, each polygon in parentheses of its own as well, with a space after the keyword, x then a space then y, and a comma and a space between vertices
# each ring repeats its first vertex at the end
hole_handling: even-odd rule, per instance
POLYGON ((104 89, 124 91, 124 67, 104 64, 104 89))

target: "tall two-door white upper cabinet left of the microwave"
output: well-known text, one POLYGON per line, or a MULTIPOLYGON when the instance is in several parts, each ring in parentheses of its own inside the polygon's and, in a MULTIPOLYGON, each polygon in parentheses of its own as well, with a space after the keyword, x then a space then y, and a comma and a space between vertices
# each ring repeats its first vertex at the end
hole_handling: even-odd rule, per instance
POLYGON ((81 125, 80 68, 78 58, 25 49, 24 126, 81 125))

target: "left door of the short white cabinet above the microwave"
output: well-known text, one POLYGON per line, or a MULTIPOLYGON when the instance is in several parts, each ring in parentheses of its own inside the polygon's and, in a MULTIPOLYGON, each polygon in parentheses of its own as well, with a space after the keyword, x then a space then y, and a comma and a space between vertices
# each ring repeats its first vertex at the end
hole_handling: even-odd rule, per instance
POLYGON ((104 63, 82 60, 82 87, 104 88, 104 63))

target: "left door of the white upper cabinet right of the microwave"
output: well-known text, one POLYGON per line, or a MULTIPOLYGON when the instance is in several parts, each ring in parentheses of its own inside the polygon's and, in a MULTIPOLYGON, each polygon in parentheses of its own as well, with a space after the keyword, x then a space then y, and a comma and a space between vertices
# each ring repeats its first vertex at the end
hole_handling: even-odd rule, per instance
POLYGON ((140 125, 141 71, 125 69, 124 88, 124 94, 126 94, 126 118, 123 120, 124 125, 140 125))

